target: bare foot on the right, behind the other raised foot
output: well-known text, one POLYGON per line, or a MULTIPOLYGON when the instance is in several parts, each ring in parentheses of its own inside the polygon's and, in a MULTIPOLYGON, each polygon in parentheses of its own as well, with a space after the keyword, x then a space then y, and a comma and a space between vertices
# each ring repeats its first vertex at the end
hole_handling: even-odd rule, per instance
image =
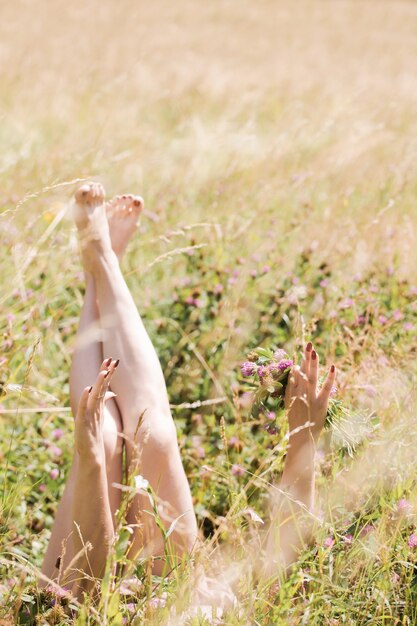
POLYGON ((111 245, 119 259, 136 231, 142 209, 143 199, 131 194, 116 196, 106 204, 111 245))

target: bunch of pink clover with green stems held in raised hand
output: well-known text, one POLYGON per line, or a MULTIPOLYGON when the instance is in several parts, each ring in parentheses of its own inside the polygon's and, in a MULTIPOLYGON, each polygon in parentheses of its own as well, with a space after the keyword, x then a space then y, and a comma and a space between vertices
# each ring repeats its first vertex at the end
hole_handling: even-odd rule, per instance
MULTIPOLYGON (((285 391, 288 377, 294 362, 285 350, 256 348, 252 350, 247 361, 242 363, 242 375, 250 379, 247 390, 253 395, 252 416, 257 418, 261 412, 272 416, 277 422, 285 409, 285 391)), ((336 398, 337 388, 333 387, 330 395, 325 428, 333 428, 335 434, 342 439, 349 453, 354 450, 355 437, 348 425, 351 423, 350 412, 336 398)))

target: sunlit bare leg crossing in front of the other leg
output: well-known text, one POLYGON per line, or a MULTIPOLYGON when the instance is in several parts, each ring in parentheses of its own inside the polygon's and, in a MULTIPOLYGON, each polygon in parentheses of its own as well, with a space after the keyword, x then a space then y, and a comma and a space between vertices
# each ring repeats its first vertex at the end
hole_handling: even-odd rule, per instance
MULTIPOLYGON (((170 539, 174 552, 181 555, 190 550, 197 538, 197 526, 187 478, 178 450, 175 425, 171 416, 161 366, 151 340, 145 330, 135 303, 120 271, 117 255, 112 250, 110 233, 105 218, 104 204, 89 210, 83 203, 93 185, 77 192, 80 208, 84 207, 91 231, 84 250, 84 263, 94 276, 100 312, 105 354, 120 359, 120 366, 112 380, 112 390, 122 416, 123 432, 127 437, 127 462, 135 458, 134 437, 138 420, 143 415, 136 443, 140 448, 140 473, 150 482, 165 503, 159 507, 166 527, 179 517, 170 539)), ((132 200, 132 208, 135 206, 132 200)), ((136 210, 140 210, 137 206, 136 210)), ((130 511, 129 521, 142 524, 136 529, 132 552, 159 556, 163 554, 162 535, 149 510, 147 499, 138 496, 130 511)), ((155 572, 163 564, 157 562, 155 572)))

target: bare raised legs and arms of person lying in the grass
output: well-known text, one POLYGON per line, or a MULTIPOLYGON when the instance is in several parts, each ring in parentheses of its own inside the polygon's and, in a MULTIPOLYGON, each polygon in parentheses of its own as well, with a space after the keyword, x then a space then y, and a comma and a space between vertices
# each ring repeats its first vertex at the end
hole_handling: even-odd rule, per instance
MULTIPOLYGON (((98 183, 81 187, 75 199, 86 278, 70 375, 75 450, 42 571, 61 584, 71 583, 81 598, 102 578, 115 537, 121 491, 114 484, 123 482, 123 446, 130 471, 140 473, 157 494, 166 528, 181 516, 170 538, 172 556, 181 559, 190 554, 198 533, 162 369, 119 265, 143 201, 125 195, 106 204, 98 183), (95 381, 92 388, 85 387, 88 381, 95 381)), ((306 511, 313 510, 316 442, 325 421, 334 367, 320 391, 317 379, 318 356, 308 344, 287 389, 290 437, 280 484, 282 493, 290 496, 291 507, 306 511)), ((163 539, 146 512, 149 509, 146 496, 135 496, 127 514, 133 531, 129 557, 154 557, 153 573, 162 574, 167 569, 163 539)), ((281 556, 275 561, 288 564, 296 558, 304 536, 300 537, 294 519, 282 516, 283 507, 279 509, 274 512, 266 552, 278 550, 281 556), (272 532, 277 528, 281 529, 279 546, 272 532)), ((265 573, 273 573, 268 564, 265 573)))

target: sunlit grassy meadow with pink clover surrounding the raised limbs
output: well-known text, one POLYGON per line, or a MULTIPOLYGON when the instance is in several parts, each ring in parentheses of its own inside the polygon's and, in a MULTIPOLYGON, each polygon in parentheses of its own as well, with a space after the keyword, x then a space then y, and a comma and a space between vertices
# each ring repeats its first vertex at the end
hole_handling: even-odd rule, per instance
POLYGON ((0 624, 215 623, 181 616, 187 563, 164 580, 138 563, 135 602, 36 589, 72 456, 70 199, 90 179, 145 199, 123 268, 239 598, 218 623, 417 624, 417 3, 0 6, 0 624), (240 364, 310 339, 351 445, 326 432, 320 524, 271 590, 245 545, 285 426, 251 417, 240 364))

